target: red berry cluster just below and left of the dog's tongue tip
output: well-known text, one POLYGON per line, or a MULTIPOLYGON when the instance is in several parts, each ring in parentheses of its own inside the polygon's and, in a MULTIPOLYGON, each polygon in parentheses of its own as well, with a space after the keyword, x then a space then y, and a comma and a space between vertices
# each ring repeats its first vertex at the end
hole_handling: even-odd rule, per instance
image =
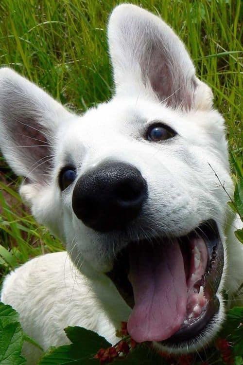
POLYGON ((95 359, 99 359, 100 364, 109 364, 116 358, 124 358, 129 354, 130 350, 136 347, 137 343, 128 335, 127 323, 121 322, 121 329, 116 333, 117 337, 121 337, 115 346, 108 348, 101 348, 94 356, 95 359))

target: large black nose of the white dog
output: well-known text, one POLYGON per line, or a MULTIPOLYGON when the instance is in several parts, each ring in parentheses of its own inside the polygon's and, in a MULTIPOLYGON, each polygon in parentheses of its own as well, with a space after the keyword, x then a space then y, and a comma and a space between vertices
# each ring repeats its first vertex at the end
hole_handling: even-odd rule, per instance
POLYGON ((135 219, 147 197, 140 171, 122 162, 105 162, 76 183, 72 208, 85 225, 100 232, 120 230, 135 219))

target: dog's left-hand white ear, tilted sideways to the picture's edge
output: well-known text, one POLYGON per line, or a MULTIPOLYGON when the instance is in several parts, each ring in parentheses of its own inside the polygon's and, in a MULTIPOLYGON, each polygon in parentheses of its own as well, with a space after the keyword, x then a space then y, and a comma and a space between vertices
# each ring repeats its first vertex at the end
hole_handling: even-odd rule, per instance
POLYGON ((0 148, 17 175, 35 183, 47 180, 56 130, 68 117, 35 84, 11 69, 0 69, 0 148))

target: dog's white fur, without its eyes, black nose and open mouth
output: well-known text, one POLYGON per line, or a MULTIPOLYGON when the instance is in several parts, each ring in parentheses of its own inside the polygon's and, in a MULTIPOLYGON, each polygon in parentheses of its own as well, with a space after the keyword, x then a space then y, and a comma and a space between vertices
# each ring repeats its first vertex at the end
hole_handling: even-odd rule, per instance
MULTIPOLYGON (((184 45, 160 18, 120 5, 110 17, 108 38, 116 93, 83 116, 69 113, 14 71, 0 70, 2 152, 28 178, 20 194, 35 218, 65 242, 69 253, 40 256, 18 268, 6 277, 1 300, 20 313, 23 329, 44 349, 68 343, 63 328, 72 325, 115 343, 115 329, 130 313, 104 274, 116 254, 133 239, 182 236, 214 219, 227 257, 218 290, 220 312, 210 333, 189 347, 193 351, 206 345, 222 324, 222 290, 234 298, 243 281, 243 246, 234 236, 240 222, 229 211, 228 197, 213 172, 232 195, 224 120, 212 109, 212 93, 195 76, 184 45), (154 121, 178 135, 162 143, 144 140, 154 121), (23 123, 42 132, 47 147, 41 152, 34 140, 33 147, 18 147, 21 137, 15 128, 23 123), (43 159, 45 153, 51 163, 43 159), (70 161, 80 177, 106 159, 133 164, 148 184, 149 200, 129 235, 85 226, 72 210, 73 185, 63 192, 58 187, 58 172, 70 161)), ((24 354, 28 364, 36 364, 40 352, 26 344, 24 354)))

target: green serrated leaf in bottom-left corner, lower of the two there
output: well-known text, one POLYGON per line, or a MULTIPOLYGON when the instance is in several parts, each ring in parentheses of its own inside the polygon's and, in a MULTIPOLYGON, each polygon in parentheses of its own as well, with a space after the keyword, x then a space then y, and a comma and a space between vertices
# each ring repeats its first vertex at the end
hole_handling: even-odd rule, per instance
POLYGON ((23 331, 18 322, 12 322, 0 330, 0 364, 24 365, 26 360, 21 356, 23 331))

